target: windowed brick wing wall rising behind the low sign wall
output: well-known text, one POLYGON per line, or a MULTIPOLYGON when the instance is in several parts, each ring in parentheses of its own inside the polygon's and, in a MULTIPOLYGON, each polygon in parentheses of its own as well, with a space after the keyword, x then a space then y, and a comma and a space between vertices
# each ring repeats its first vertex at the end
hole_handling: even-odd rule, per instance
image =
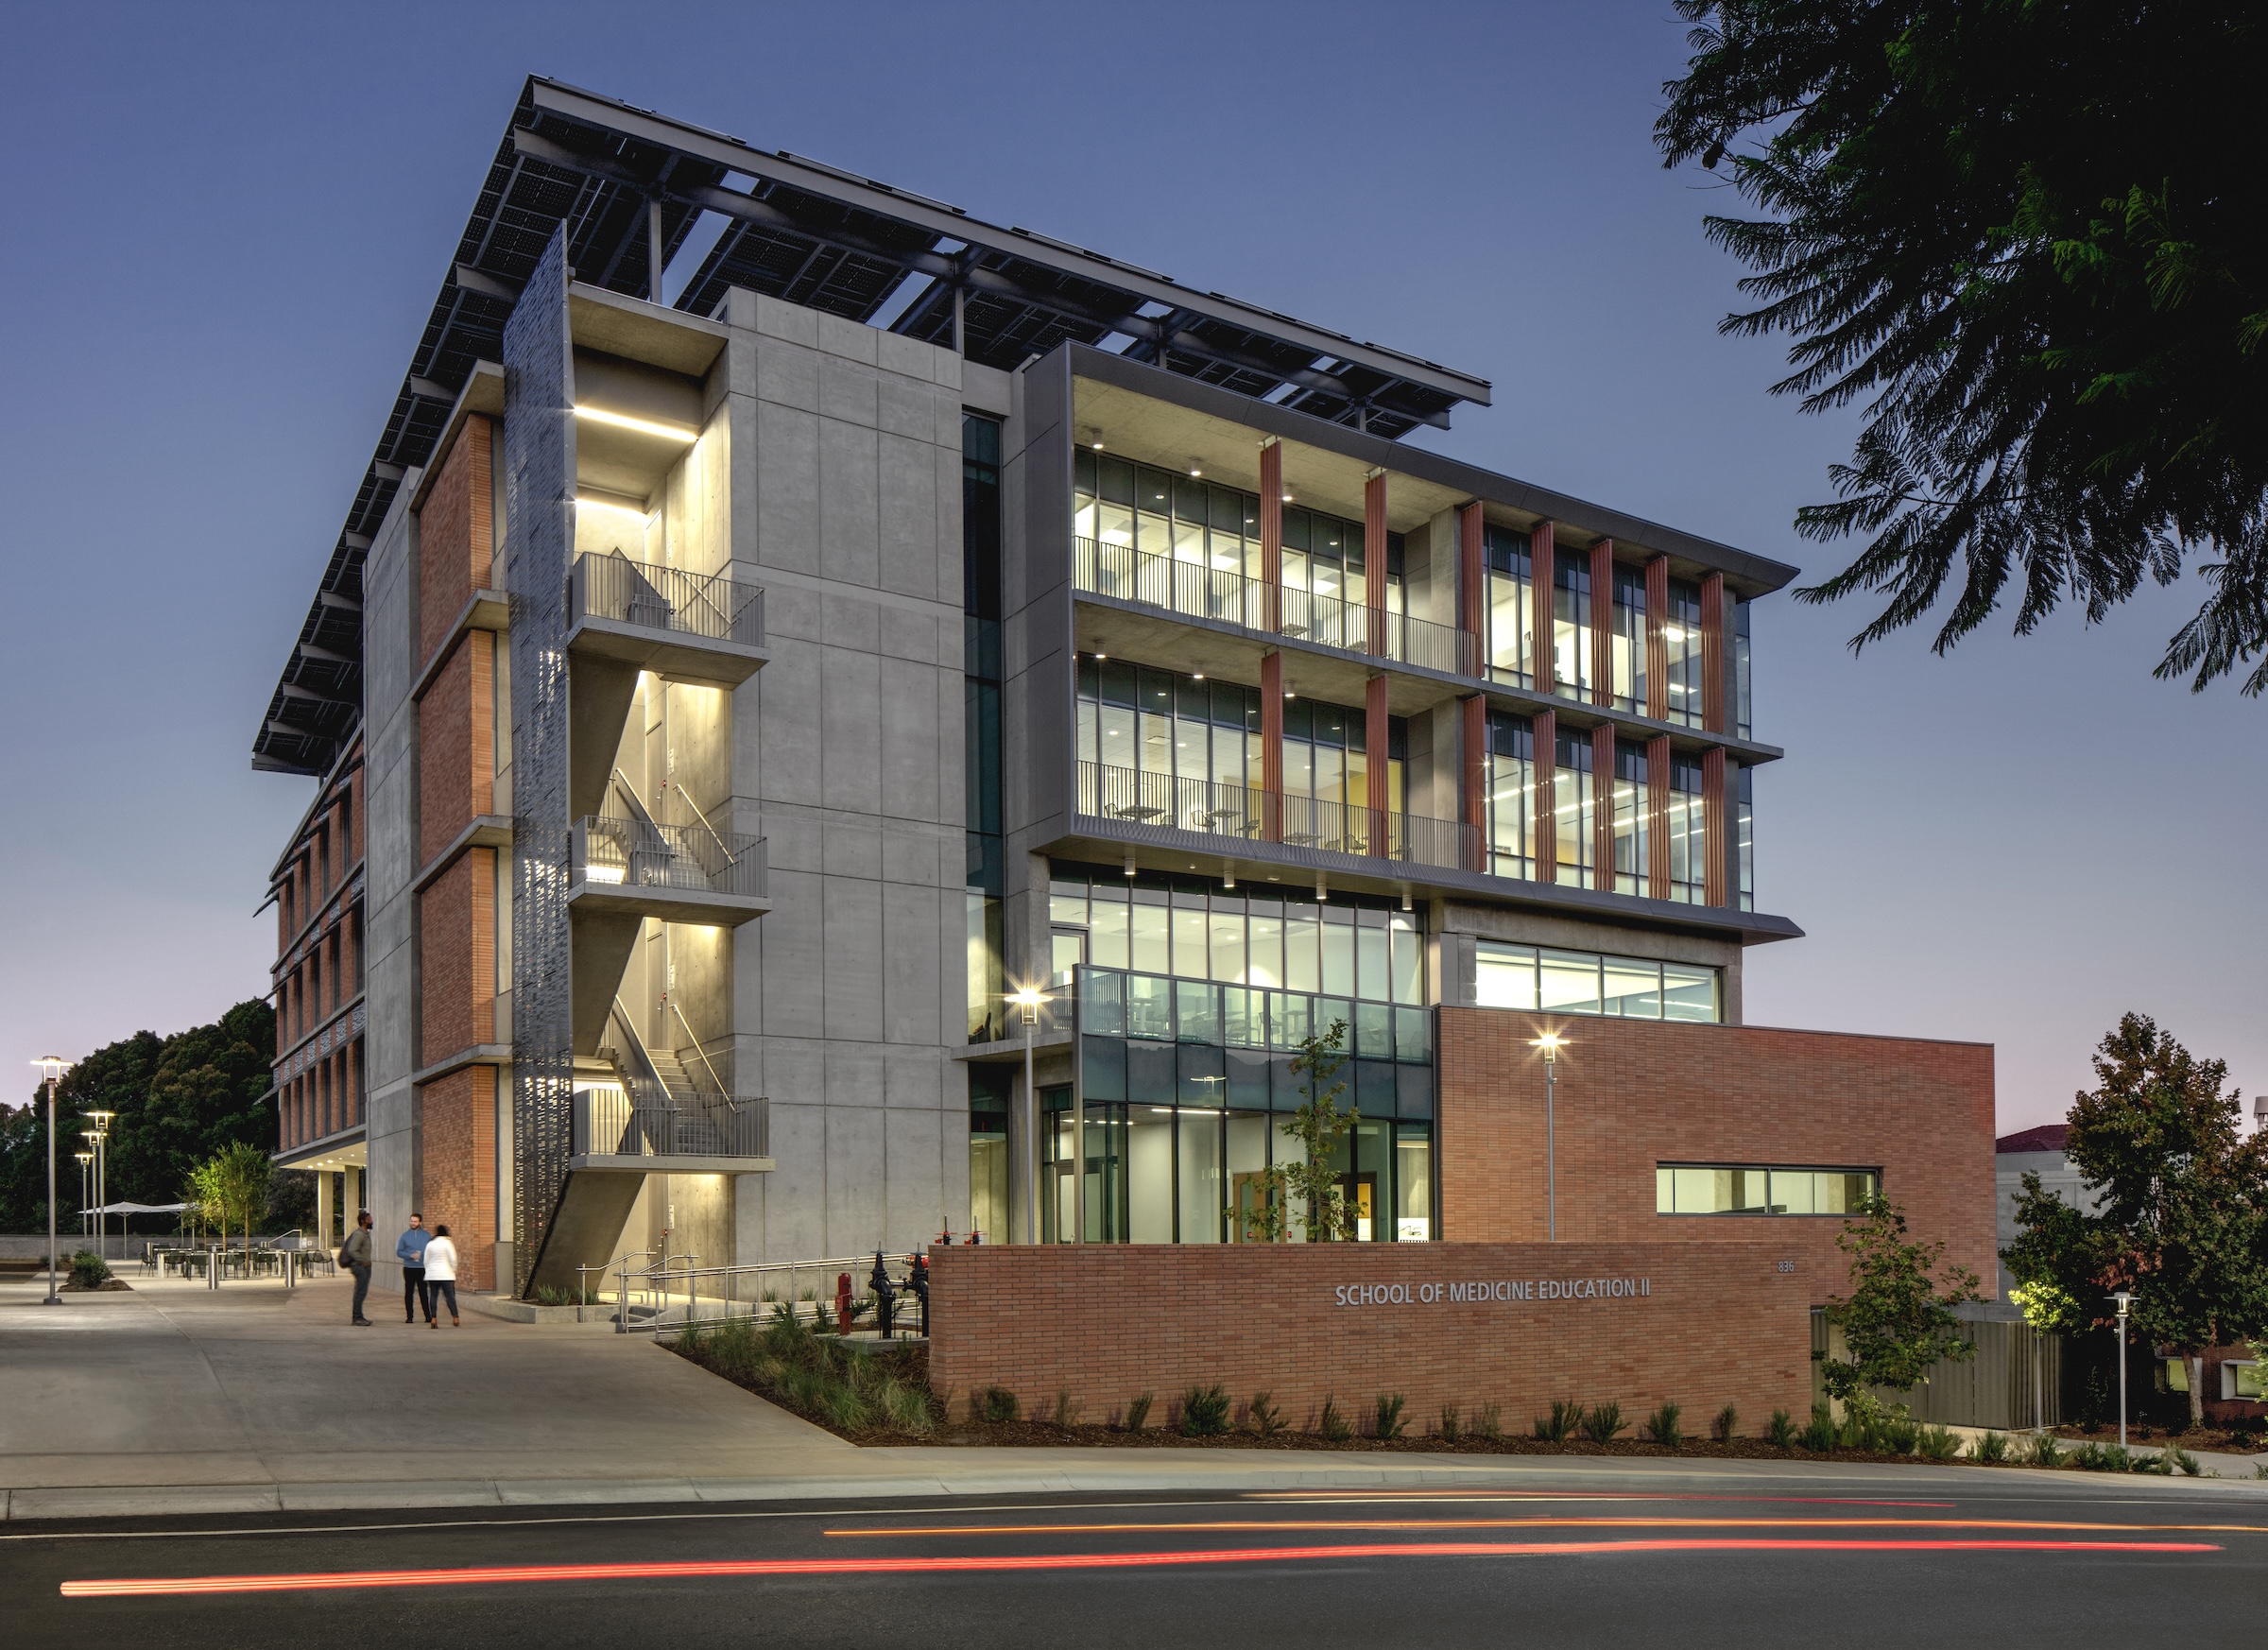
POLYGON ((1991 1290, 1994 1068, 1982 1043, 1440 1011, 1440 1201, 1449 1242, 1545 1235, 1542 1031, 1558 1056, 1560 1242, 1769 1242, 1848 1276, 1833 1217, 1656 1215, 1658 1163, 1880 1170, 1912 1235, 1991 1290))

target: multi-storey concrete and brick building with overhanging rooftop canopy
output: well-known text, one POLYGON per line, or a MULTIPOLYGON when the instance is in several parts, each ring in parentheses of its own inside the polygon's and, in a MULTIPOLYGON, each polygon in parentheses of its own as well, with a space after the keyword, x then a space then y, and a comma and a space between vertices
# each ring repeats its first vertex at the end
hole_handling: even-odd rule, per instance
MULTIPOLYGON (((1710 1040, 1799 934, 1755 900, 1749 705, 1794 569, 1404 440, 1488 399, 531 79, 256 743, 370 843, 367 1052, 304 1113, 290 1020, 286 1160, 367 1158, 381 1231, 447 1219, 517 1292, 1222 1242, 1343 1024, 1361 1235, 1479 1235, 1526 1215, 1442 1199, 1470 1006, 1583 1027, 1569 1070, 1685 1038, 1687 1081, 1613 1099, 1694 1126, 1597 1199, 1885 1185, 1896 1120, 1710 1040), (1842 1124, 1789 1160, 1794 1113, 1842 1124)), ((1982 1133, 1946 1090, 1980 1174, 1984 1086, 1982 1133)))

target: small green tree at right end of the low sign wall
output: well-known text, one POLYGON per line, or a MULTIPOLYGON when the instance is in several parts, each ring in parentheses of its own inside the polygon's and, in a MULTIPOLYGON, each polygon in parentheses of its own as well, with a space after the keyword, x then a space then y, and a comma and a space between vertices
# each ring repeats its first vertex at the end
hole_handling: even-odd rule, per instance
POLYGON ((1869 1387, 1912 1392, 1939 1358, 1973 1358, 1953 1308, 1978 1294, 1978 1274, 1944 1267, 1941 1242, 1910 1242, 1905 1215, 1882 1194, 1860 1201, 1835 1247, 1851 1256, 1851 1294, 1828 1301, 1848 1358, 1823 1360, 1826 1387, 1844 1403, 1869 1387))

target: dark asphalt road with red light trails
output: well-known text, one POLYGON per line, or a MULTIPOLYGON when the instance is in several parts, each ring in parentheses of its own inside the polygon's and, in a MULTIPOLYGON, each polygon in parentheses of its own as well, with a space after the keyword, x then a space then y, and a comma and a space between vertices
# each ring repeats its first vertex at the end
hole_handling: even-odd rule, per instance
POLYGON ((2259 1634, 2268 1496, 1910 1478, 9 1525, 0 1641, 2071 1650, 2259 1634))

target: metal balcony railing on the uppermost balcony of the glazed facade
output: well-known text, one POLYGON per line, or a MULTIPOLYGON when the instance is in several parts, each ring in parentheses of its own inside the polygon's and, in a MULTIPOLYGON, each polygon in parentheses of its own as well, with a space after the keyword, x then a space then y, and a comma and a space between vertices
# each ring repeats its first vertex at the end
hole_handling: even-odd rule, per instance
POLYGON ((1454 626, 1411 619, 1306 589, 1270 587, 1204 562, 1136 551, 1132 544, 1073 539, 1073 582, 1095 596, 1177 612, 1186 619, 1218 619, 1261 635, 1284 635, 1343 648, 1374 660, 1415 664, 1427 671, 1472 675, 1479 671, 1474 639, 1454 626))

